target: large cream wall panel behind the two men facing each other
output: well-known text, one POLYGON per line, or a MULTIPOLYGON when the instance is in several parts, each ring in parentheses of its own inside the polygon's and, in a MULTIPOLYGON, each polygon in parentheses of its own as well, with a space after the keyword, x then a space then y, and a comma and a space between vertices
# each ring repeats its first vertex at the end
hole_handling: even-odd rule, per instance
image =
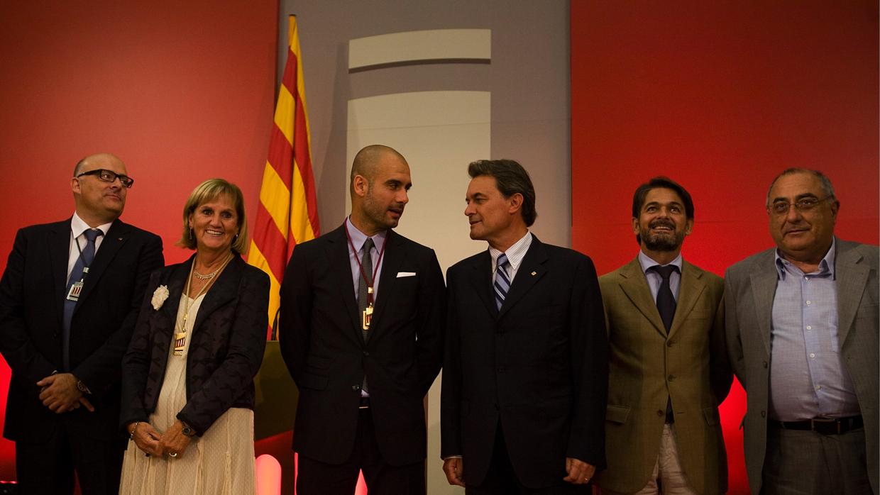
MULTIPOLYGON (((434 248, 444 273, 487 249, 485 242, 468 237, 464 211, 467 164, 489 157, 489 111, 488 91, 418 91, 348 101, 348 172, 357 151, 370 144, 391 146, 407 158, 413 188, 395 230, 434 248)), ((446 483, 441 470, 441 379, 428 397, 428 492, 461 493, 446 483)))

